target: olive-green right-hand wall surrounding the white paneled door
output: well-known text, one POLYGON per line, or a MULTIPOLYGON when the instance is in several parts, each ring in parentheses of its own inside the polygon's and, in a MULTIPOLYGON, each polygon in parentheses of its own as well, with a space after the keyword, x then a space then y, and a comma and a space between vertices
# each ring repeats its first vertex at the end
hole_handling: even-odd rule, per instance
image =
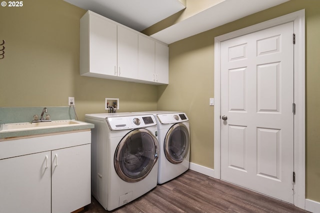
POLYGON ((213 168, 214 37, 305 8, 306 198, 320 201, 320 1, 290 0, 169 45, 169 85, 159 86, 158 109, 190 119, 193 163, 213 168), (174 82, 174 83, 173 83, 174 82))

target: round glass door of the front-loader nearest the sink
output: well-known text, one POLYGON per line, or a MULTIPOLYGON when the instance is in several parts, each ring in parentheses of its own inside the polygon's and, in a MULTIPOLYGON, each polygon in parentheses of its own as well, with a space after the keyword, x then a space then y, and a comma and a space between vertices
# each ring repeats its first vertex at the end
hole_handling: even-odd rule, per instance
POLYGON ((119 142, 114 153, 114 168, 121 179, 137 182, 148 175, 158 159, 158 141, 145 129, 134 129, 119 142))

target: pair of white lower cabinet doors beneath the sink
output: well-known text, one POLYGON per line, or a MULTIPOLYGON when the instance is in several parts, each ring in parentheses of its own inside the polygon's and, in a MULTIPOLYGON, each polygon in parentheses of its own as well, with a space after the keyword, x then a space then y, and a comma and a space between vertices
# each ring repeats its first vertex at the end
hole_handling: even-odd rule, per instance
POLYGON ((87 143, 0 159, 0 213, 72 212, 89 204, 90 158, 87 143))

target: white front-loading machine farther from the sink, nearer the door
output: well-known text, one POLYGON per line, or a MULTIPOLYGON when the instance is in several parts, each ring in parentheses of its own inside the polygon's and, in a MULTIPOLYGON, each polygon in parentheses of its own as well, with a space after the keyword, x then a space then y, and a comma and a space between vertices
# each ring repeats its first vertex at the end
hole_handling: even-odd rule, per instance
POLYGON ((153 114, 158 127, 159 166, 158 183, 164 183, 189 168, 190 128, 184 112, 143 111, 153 114))

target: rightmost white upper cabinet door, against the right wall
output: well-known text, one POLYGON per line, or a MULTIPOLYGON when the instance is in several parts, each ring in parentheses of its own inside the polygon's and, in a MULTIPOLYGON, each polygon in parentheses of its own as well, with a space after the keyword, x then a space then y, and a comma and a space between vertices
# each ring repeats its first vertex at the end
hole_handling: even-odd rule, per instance
POLYGON ((169 83, 169 47, 155 42, 155 77, 156 82, 169 83))

